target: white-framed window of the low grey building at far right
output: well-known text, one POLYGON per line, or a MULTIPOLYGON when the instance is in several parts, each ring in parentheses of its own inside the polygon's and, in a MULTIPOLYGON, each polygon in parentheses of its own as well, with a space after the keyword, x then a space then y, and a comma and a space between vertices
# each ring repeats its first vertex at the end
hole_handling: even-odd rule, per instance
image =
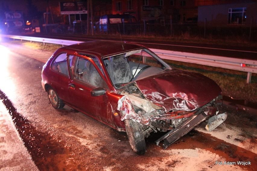
POLYGON ((229 8, 228 23, 244 24, 246 20, 246 8, 229 8))

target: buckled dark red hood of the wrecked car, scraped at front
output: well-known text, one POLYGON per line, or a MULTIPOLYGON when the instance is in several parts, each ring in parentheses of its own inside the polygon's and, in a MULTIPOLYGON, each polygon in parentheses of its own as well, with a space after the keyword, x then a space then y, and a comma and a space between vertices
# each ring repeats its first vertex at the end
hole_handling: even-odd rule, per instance
POLYGON ((166 112, 192 111, 221 94, 221 88, 204 75, 171 69, 135 81, 143 95, 166 112))

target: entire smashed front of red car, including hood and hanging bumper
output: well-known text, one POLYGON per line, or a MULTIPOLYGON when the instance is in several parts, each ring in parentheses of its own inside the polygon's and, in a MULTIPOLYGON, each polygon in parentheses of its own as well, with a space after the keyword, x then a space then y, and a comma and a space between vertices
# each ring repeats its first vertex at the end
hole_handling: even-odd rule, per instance
POLYGON ((211 116, 216 117, 210 121, 209 130, 226 119, 218 114, 220 93, 220 87, 203 75, 168 71, 126 85, 120 91, 117 110, 122 121, 140 123, 144 137, 151 132, 167 132, 156 141, 157 145, 163 141, 163 148, 167 148, 211 116))

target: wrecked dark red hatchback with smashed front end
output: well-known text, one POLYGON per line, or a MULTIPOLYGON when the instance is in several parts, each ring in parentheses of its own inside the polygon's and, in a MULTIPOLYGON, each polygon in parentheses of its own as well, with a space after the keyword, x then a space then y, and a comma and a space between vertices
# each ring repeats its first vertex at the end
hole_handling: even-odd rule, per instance
POLYGON ((167 132, 163 148, 207 120, 208 130, 227 117, 218 114, 221 88, 201 74, 174 69, 148 48, 118 41, 88 41, 61 47, 43 66, 42 86, 54 108, 65 104, 117 131, 134 152, 144 138, 167 132))

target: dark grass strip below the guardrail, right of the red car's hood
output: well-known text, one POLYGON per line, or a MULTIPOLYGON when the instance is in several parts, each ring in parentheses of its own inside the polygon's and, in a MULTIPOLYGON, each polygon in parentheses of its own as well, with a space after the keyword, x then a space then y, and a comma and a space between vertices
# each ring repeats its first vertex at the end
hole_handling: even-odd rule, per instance
POLYGON ((225 96, 257 102, 257 74, 252 74, 251 83, 247 84, 246 72, 170 60, 165 61, 176 69, 198 72, 211 78, 221 87, 222 94, 225 96))

